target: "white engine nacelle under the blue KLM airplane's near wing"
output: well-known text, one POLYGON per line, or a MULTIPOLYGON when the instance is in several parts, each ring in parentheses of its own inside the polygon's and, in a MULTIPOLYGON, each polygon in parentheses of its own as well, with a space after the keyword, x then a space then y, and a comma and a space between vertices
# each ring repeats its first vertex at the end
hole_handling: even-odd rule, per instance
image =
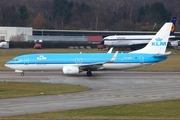
POLYGON ((80 70, 77 66, 64 66, 62 72, 63 74, 78 74, 80 70))

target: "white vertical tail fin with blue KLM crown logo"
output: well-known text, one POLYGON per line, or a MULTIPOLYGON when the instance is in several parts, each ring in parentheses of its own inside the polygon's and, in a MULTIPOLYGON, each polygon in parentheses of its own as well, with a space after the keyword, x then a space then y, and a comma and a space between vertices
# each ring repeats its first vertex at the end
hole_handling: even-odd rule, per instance
POLYGON ((172 23, 165 23, 144 48, 133 51, 131 53, 164 54, 166 51, 171 27, 172 23))

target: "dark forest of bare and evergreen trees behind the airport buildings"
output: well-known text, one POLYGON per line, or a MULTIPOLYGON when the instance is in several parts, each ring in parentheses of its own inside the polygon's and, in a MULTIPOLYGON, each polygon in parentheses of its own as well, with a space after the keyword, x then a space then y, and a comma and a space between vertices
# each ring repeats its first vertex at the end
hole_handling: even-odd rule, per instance
POLYGON ((179 0, 0 0, 0 26, 65 30, 157 30, 179 0))

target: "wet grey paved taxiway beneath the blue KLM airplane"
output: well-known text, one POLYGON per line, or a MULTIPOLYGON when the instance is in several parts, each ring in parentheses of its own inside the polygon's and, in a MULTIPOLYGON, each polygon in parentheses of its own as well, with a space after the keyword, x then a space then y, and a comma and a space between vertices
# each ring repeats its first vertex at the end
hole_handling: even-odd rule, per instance
POLYGON ((63 75, 60 71, 0 71, 0 81, 83 85, 90 91, 0 99, 0 116, 51 112, 95 106, 131 104, 180 98, 180 72, 97 71, 63 75))

